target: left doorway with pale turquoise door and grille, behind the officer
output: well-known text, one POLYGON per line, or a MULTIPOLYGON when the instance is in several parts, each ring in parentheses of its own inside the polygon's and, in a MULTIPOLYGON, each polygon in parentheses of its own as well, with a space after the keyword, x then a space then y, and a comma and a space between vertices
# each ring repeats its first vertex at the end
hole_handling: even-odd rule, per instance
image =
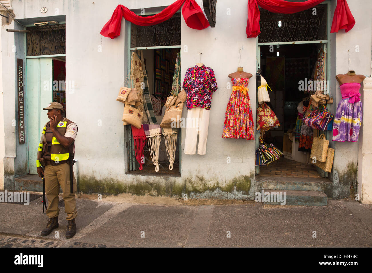
MULTIPOLYGON (((61 103, 66 110, 66 24, 64 17, 47 25, 28 25, 26 35, 26 140, 28 173, 37 175, 36 154, 41 131, 48 122, 47 111, 42 110, 52 101, 61 103), (56 22, 60 22, 57 23, 56 22), (64 21, 64 20, 62 20, 64 21)), ((36 19, 36 22, 41 19, 36 19)), ((44 22, 44 21, 42 21, 44 22)))

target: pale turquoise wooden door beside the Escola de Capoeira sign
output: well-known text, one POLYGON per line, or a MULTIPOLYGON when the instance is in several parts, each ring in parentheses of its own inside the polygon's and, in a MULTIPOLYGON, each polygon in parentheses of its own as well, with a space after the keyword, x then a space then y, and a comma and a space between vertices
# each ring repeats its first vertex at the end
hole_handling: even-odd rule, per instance
POLYGON ((27 139, 28 166, 30 174, 36 172, 36 153, 41 138, 41 131, 49 121, 47 107, 52 102, 52 58, 27 59, 27 139))

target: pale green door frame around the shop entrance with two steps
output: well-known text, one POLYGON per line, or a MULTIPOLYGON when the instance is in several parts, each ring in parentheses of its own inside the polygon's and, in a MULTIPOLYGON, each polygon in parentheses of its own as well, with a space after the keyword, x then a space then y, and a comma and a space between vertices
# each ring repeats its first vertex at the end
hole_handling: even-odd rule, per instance
MULTIPOLYGON (((331 71, 330 71, 330 66, 331 66, 331 58, 330 58, 330 56, 331 56, 331 47, 328 46, 328 45, 330 45, 330 35, 331 35, 331 3, 330 3, 330 0, 327 0, 327 1, 322 2, 321 4, 326 4, 327 5, 327 40, 259 43, 258 42, 258 36, 257 36, 257 38, 256 38, 256 58, 257 58, 257 64, 259 64, 259 66, 261 67, 261 46, 264 46, 264 45, 298 45, 298 44, 309 44, 309 43, 321 43, 322 44, 322 48, 324 48, 323 45, 325 44, 325 47, 327 49, 327 51, 326 51, 327 52, 327 55, 326 55, 327 61, 325 62, 325 66, 326 66, 326 69, 325 69, 325 81, 327 81, 329 79, 329 76, 331 75, 331 71)), ((256 87, 256 90, 257 90, 257 87, 256 87)), ((258 100, 257 100, 257 94, 256 94, 256 109, 257 109, 257 107, 258 107, 258 100)), ((328 104, 327 104, 327 108, 329 109, 329 105, 328 104)), ((257 115, 257 111, 256 111, 256 115, 257 115)), ((257 117, 256 117, 256 120, 257 120, 257 117)), ((256 134, 256 147, 254 149, 254 158, 256 158, 256 150, 257 150, 257 148, 259 146, 259 140, 257 138, 257 135, 258 135, 257 134, 257 124, 255 126, 255 134, 256 134)), ((326 133, 325 136, 327 138, 328 133, 326 133)), ((317 170, 319 171, 321 169, 317 167, 317 170)), ((323 173, 324 173, 324 176, 326 178, 328 178, 328 173, 327 172, 323 172, 323 173)), ((321 174, 323 174, 323 173, 321 173, 321 174)), ((255 166, 255 175, 259 175, 259 174, 260 174, 260 166, 255 166)))

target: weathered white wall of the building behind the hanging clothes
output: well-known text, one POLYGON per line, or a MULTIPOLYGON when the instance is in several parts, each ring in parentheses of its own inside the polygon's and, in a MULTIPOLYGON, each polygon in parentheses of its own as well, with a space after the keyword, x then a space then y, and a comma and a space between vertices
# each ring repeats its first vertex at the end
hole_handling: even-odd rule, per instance
MULTIPOLYGON (((241 65, 244 71, 254 76, 250 79, 250 101, 253 118, 256 120, 256 42, 246 38, 247 2, 218 1, 216 27, 194 30, 186 26, 181 19, 181 77, 186 69, 199 62, 198 52, 202 52, 202 62, 212 67, 217 79, 218 90, 214 92, 210 112, 209 132, 206 155, 182 154, 182 177, 125 175, 127 170, 127 150, 125 130, 121 116, 123 105, 115 98, 126 76, 128 66, 127 24, 122 22, 121 36, 109 39, 99 34, 103 25, 110 19, 118 4, 129 9, 154 6, 168 6, 174 0, 142 1, 13 1, 16 18, 34 18, 42 16, 66 15, 66 80, 74 81, 72 94, 66 94, 68 118, 75 121, 79 128, 76 139, 76 158, 79 160, 79 178, 81 181, 99 183, 118 182, 138 183, 176 183, 186 187, 210 185, 228 185, 254 175, 254 140, 222 139, 225 110, 231 95, 227 83, 228 74, 239 66, 239 49, 242 48, 241 65), (41 7, 48 12, 42 14, 41 7), (231 14, 227 14, 230 9, 231 14), (57 14, 58 13, 58 14, 57 14), (187 46, 187 51, 185 51, 187 46), (101 50, 102 49, 102 50, 101 50), (99 126, 102 124, 102 126, 99 126), (231 163, 227 163, 227 157, 231 163), (194 185, 195 186, 195 185, 194 185)), ((198 2, 199 3, 199 2, 198 2)), ((331 17, 336 1, 332 1, 331 17)), ((336 74, 347 72, 347 50, 350 49, 351 66, 358 74, 371 74, 371 3, 368 0, 349 1, 349 7, 357 21, 348 33, 331 35, 331 86, 335 103, 331 107, 334 113, 341 99, 339 88, 336 90, 336 74), (360 52, 355 52, 360 45, 360 52)), ((147 9, 153 10, 153 9, 147 9)), ((182 17, 183 18, 183 17, 182 17)), ((12 28, 13 26, 8 26, 12 28)), ((10 120, 15 118, 15 59, 16 56, 5 49, 14 44, 14 33, 1 29, 1 65, 5 152, 4 157, 16 156, 16 131, 10 120), (6 69, 4 69, 6 68, 6 69)), ((1 78, 0 78, 1 81, 1 78)), ((0 98, 1 103, 1 98, 0 98)), ((186 117, 186 105, 183 109, 186 117)), ((366 118, 366 117, 364 117, 366 118)), ((0 127, 2 131, 2 128, 0 127)), ((182 150, 184 149, 185 129, 182 129, 182 150)), ((368 140, 367 140, 368 141, 368 140)), ((332 143, 331 146, 334 144, 332 143)), ((183 152, 183 151, 182 151, 183 152)), ((357 162, 358 143, 336 143, 333 179, 339 179, 347 163, 357 162)), ((1 137, 0 137, 0 157, 1 137)), ((0 163, 1 164, 1 163, 0 163)), ((14 167, 14 160, 13 163, 14 167)), ((21 163, 19 163, 21 164, 21 163)), ((1 167, 1 166, 0 166, 1 167)), ((5 168, 5 167, 4 167, 5 168)), ((253 182, 253 181, 252 181, 253 182)), ((252 194, 251 187, 250 193, 252 194)))

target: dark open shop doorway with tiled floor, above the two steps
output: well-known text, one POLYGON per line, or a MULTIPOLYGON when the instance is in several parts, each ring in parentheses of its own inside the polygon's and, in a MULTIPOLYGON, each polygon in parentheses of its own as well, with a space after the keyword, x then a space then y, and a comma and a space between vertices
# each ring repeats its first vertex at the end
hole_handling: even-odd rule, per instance
MULTIPOLYGON (((330 35, 330 3, 328 1, 294 14, 277 14, 260 9, 261 33, 257 40, 257 64, 269 87, 269 107, 280 126, 264 134, 283 155, 274 163, 256 166, 256 175, 297 178, 327 177, 309 160, 309 149, 299 149, 295 137, 298 105, 307 97, 300 81, 310 80, 320 50, 327 52, 330 35), (309 163, 310 162, 310 163, 309 163)), ((329 75, 329 56, 324 60, 324 80, 329 75)), ((258 101, 256 102, 258 106, 258 101)), ((259 146, 256 135, 256 148, 259 146)), ((302 145, 301 145, 302 146, 302 145)), ((311 146, 310 146, 311 147, 311 146)), ((310 149, 311 150, 311 149, 310 149)))

